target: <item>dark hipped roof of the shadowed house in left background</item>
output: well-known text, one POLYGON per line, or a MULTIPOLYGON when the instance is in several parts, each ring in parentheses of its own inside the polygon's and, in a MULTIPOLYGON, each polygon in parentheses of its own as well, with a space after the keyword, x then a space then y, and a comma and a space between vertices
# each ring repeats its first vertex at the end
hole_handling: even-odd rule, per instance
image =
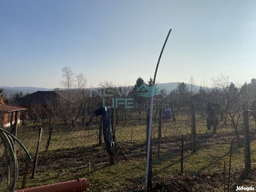
POLYGON ((60 104, 61 100, 67 100, 56 92, 38 91, 22 97, 19 104, 60 104))

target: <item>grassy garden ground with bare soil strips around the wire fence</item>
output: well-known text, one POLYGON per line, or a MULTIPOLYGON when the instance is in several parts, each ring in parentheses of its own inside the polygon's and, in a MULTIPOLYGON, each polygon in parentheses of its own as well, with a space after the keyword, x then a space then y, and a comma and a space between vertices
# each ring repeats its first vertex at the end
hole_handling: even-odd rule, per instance
MULTIPOLYGON (((239 125, 241 138, 243 138, 242 125, 243 122, 239 125)), ((42 127, 44 132, 40 143, 35 178, 31 179, 31 164, 26 188, 74 180, 77 177, 88 179, 88 191, 136 191, 144 188, 145 121, 130 120, 126 124, 116 125, 116 141, 121 150, 117 151, 117 162, 113 165, 109 165, 104 143, 99 145, 97 122, 90 128, 78 126, 77 129, 56 124, 47 152, 45 152, 45 145, 49 136, 49 127, 48 125, 42 125, 42 127)), ((176 116, 176 122, 164 120, 161 140, 157 138, 157 121, 152 125, 152 180, 155 188, 158 186, 159 191, 160 188, 163 191, 164 189, 167 191, 223 191, 225 180, 223 168, 224 163, 228 168, 231 139, 234 140, 231 188, 236 189, 237 185, 256 186, 254 170, 246 177, 244 176, 243 147, 237 147, 234 129, 230 125, 220 122, 217 134, 212 134, 212 131, 208 131, 206 128, 205 116, 198 115, 196 117, 196 132, 197 151, 191 153, 189 113, 176 116), (182 134, 184 135, 183 173, 180 172, 180 138, 182 134)), ((254 163, 256 152, 255 133, 255 122, 251 121, 252 163, 254 163)), ((28 148, 34 158, 38 141, 38 127, 20 127, 17 138, 28 148)), ((20 170, 17 189, 19 189, 26 159, 21 148, 17 147, 17 150, 19 151, 20 170)), ((2 154, 3 146, 1 146, 0 152, 2 154)), ((4 161, 1 163, 3 164, 4 161)), ((1 192, 4 190, 4 185, 4 181, 1 182, 1 192)))

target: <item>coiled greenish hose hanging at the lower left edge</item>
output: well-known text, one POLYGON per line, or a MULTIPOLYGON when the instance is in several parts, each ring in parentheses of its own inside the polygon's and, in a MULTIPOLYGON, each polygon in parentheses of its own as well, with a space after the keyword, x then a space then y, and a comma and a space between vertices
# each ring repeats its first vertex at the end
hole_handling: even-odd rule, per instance
POLYGON ((18 161, 16 157, 16 152, 15 152, 14 141, 17 141, 20 147, 23 148, 30 162, 32 162, 32 158, 28 150, 26 149, 26 147, 24 147, 24 145, 22 145, 22 143, 17 138, 15 138, 15 136, 10 134, 10 132, 0 128, 0 138, 1 138, 0 145, 4 146, 3 156, 5 156, 5 159, 6 159, 6 171, 0 177, 0 183, 4 180, 5 177, 7 177, 8 191, 13 192, 15 189, 15 184, 19 177, 19 170, 18 170, 19 167, 18 167, 18 161))

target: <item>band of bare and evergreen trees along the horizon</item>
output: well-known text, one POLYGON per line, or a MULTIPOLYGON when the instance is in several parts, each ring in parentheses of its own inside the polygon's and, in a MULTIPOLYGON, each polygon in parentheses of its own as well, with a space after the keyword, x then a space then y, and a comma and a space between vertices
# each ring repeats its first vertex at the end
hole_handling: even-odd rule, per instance
MULTIPOLYGON (((56 116, 59 114, 65 122, 72 122, 73 127, 76 127, 77 122, 82 122, 82 125, 85 126, 86 121, 93 115, 93 111, 102 105, 102 97, 97 95, 97 93, 92 92, 90 88, 86 88, 85 76, 82 73, 74 74, 70 67, 63 67, 61 77, 61 84, 63 84, 65 89, 56 88, 54 92, 60 94, 67 100, 70 100, 70 103, 63 103, 62 107, 58 109, 58 113, 47 112, 47 114, 51 114, 51 118, 49 119, 52 121, 54 119, 54 116, 52 115, 54 114, 56 116)), ((250 83, 244 83, 242 86, 230 82, 228 77, 222 75, 212 78, 211 81, 212 88, 200 86, 199 90, 195 90, 193 89, 192 84, 193 77, 191 77, 190 90, 187 84, 182 82, 171 92, 167 92, 164 89, 160 90, 162 94, 157 95, 155 100, 158 104, 164 104, 165 107, 168 106, 169 108, 173 108, 176 113, 179 113, 182 109, 187 109, 191 100, 196 103, 198 108, 202 108, 202 110, 205 110, 207 107, 206 105, 209 102, 218 102, 220 105, 220 113, 227 117, 227 120, 232 124, 232 127, 234 127, 237 138, 239 138, 237 126, 242 116, 243 105, 245 103, 248 104, 252 111, 252 115, 254 114, 253 111, 256 110, 256 102, 254 102, 256 99, 256 79, 253 78, 250 83)), ((136 94, 138 88, 140 88, 142 84, 148 87, 152 86, 152 77, 150 77, 148 81, 144 81, 143 78, 138 77, 134 86, 116 86, 111 81, 104 80, 99 83, 99 90, 102 89, 104 92, 113 93, 113 98, 120 98, 120 94, 118 95, 118 93, 127 92, 126 95, 124 94, 125 98, 134 99, 133 104, 138 107, 143 106, 143 104, 150 104, 150 99, 147 97, 138 97, 138 94, 136 94)), ((145 91, 147 92, 147 90, 145 91)), ((4 97, 3 89, 0 90, 0 94, 1 97, 4 98, 6 104, 13 105, 17 104, 17 100, 21 97, 26 96, 24 93, 20 92, 15 93, 12 97, 6 98, 4 97)), ((103 99, 108 106, 113 106, 113 104, 111 104, 113 98, 105 97, 103 99)), ((53 108, 51 108, 51 110, 52 109, 53 108)), ((128 111, 137 113, 138 115, 136 115, 136 118, 140 121, 143 110, 145 110, 145 108, 127 109, 124 105, 120 105, 118 106, 118 109, 116 109, 120 114, 118 116, 119 122, 127 121, 127 115, 129 115, 127 114, 128 111)))

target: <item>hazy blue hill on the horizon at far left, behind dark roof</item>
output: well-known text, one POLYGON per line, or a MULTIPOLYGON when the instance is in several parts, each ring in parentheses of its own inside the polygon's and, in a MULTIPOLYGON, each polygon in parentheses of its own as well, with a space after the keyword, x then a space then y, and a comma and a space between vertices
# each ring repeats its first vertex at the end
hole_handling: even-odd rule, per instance
POLYGON ((7 96, 11 96, 15 93, 22 92, 24 95, 27 93, 35 93, 37 91, 52 91, 53 89, 48 88, 38 88, 38 87, 32 87, 32 86, 0 86, 0 88, 4 89, 4 93, 7 96))

